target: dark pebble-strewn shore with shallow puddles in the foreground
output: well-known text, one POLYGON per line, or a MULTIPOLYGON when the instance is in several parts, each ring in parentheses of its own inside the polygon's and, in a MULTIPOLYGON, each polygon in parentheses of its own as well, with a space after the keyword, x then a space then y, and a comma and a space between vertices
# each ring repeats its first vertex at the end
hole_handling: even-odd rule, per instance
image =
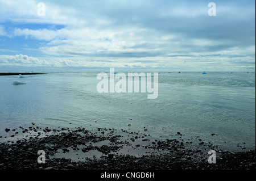
POLYGON ((33 124, 5 131, 10 136, 0 136, 0 170, 255 170, 255 149, 232 152, 204 143, 192 146, 179 132, 180 140, 150 140, 147 134, 102 128, 49 129, 33 124), (212 149, 216 163, 208 162, 212 149), (46 154, 45 163, 38 163, 39 150, 46 154))

